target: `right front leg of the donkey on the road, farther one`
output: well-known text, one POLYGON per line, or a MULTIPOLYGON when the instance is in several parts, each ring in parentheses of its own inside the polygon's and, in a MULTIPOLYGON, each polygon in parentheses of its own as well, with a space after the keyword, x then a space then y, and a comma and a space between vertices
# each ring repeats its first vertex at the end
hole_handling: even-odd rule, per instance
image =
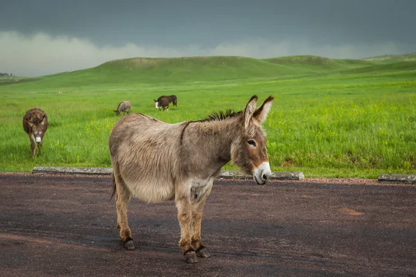
POLYGON ((211 255, 207 251, 201 240, 201 221, 202 211, 205 206, 205 198, 198 202, 192 203, 192 238, 191 243, 193 249, 196 249, 196 256, 200 258, 209 258, 211 255))

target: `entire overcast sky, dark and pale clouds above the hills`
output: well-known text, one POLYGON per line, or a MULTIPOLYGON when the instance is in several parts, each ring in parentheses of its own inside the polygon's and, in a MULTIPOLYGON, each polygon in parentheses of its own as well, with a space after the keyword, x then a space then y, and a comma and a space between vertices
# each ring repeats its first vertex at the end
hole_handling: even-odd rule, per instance
POLYGON ((0 73, 126 57, 416 51, 415 0, 0 0, 0 73))

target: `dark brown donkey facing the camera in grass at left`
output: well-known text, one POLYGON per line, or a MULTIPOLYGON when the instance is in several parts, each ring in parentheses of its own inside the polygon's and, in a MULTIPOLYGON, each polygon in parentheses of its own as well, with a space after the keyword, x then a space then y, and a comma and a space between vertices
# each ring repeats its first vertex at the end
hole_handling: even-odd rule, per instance
POLYGON ((31 140, 32 157, 35 157, 36 145, 39 149, 38 154, 40 154, 40 151, 42 150, 42 140, 48 129, 48 125, 48 116, 46 116, 42 109, 29 109, 23 116, 23 129, 31 140))

